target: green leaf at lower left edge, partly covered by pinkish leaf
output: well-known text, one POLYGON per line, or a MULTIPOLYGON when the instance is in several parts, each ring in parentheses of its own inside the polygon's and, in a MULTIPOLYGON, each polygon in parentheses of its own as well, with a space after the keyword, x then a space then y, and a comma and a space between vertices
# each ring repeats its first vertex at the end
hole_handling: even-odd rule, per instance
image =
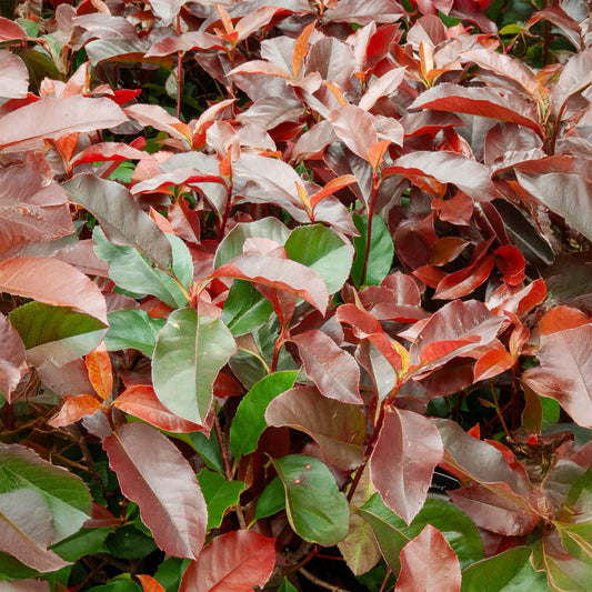
POLYGON ((0 443, 0 493, 19 489, 41 494, 53 515, 54 542, 77 532, 90 515, 90 493, 80 478, 26 446, 0 443))

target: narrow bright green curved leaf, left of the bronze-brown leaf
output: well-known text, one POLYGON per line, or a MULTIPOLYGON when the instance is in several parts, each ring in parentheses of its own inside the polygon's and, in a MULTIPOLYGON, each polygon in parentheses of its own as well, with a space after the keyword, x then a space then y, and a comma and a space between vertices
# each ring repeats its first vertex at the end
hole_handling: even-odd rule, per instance
POLYGON ((242 398, 230 428, 230 448, 237 459, 257 449, 259 437, 268 427, 265 409, 275 397, 294 385, 298 373, 288 370, 269 374, 242 398))

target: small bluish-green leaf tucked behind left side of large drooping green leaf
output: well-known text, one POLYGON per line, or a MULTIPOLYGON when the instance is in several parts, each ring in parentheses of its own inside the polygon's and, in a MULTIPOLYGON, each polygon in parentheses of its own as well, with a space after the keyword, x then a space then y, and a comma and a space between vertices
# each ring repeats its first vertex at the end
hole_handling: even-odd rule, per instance
POLYGON ((164 319, 152 319, 141 309, 121 309, 110 312, 109 331, 104 335, 107 351, 133 348, 152 358, 157 333, 164 327, 164 319))

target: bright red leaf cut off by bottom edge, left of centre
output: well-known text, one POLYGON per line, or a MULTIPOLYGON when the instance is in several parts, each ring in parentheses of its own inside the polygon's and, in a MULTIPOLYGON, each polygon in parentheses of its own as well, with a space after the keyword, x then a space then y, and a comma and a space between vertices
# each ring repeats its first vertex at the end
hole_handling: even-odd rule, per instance
POLYGON ((252 592, 263 586, 275 565, 275 540, 251 530, 217 536, 192 561, 179 592, 252 592))

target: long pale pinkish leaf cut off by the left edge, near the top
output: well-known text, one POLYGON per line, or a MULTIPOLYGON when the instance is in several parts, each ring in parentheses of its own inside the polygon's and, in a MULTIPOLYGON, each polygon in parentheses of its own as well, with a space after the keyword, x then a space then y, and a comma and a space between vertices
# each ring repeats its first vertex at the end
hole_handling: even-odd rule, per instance
POLYGON ((57 140, 72 132, 114 128, 127 120, 123 111, 106 98, 89 99, 77 94, 41 99, 0 120, 0 150, 41 150, 46 139, 57 140))

